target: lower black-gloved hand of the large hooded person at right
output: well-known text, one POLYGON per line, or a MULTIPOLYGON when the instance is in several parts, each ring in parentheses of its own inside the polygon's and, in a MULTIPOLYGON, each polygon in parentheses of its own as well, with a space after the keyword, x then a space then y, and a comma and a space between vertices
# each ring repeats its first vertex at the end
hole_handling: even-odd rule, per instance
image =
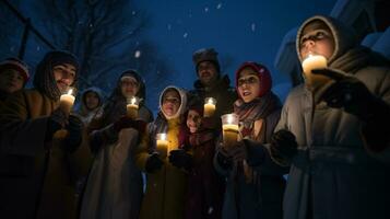
POLYGON ((271 157, 281 165, 289 165, 291 160, 298 152, 294 134, 286 129, 274 132, 270 143, 271 157))

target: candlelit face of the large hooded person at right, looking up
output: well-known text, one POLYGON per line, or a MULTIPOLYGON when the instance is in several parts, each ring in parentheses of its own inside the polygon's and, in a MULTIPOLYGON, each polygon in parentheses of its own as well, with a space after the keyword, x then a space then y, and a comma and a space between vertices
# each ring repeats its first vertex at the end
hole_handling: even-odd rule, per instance
POLYGON ((334 39, 328 27, 308 24, 299 41, 299 54, 305 59, 309 53, 322 55, 329 59, 334 51, 334 39))

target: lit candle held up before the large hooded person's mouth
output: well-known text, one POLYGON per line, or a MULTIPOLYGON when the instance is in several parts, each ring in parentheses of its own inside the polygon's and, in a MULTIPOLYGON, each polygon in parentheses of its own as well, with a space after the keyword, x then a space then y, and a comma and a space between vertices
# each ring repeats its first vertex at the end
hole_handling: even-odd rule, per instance
POLYGON ((321 74, 314 74, 312 69, 321 69, 328 67, 328 60, 321 55, 309 54, 302 62, 302 68, 305 73, 305 83, 311 91, 317 90, 322 84, 329 81, 328 77, 321 74))

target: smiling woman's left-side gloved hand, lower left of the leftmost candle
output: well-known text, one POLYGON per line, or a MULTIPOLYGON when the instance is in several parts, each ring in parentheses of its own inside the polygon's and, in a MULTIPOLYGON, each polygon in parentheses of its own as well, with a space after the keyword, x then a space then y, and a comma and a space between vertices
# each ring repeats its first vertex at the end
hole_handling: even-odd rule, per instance
POLYGON ((55 110, 46 125, 46 141, 50 141, 56 131, 60 130, 68 124, 68 115, 59 107, 55 110))

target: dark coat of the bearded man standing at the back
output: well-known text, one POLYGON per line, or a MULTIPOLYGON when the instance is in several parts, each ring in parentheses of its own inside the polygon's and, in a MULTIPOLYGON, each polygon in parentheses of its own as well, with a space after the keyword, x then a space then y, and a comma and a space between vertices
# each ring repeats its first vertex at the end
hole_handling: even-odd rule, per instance
POLYGON ((194 90, 190 94, 201 99, 214 97, 216 100, 214 117, 220 118, 223 114, 233 112, 233 103, 237 100, 234 88, 229 87, 231 80, 227 74, 221 77, 212 88, 205 88, 200 80, 193 83, 194 90))

